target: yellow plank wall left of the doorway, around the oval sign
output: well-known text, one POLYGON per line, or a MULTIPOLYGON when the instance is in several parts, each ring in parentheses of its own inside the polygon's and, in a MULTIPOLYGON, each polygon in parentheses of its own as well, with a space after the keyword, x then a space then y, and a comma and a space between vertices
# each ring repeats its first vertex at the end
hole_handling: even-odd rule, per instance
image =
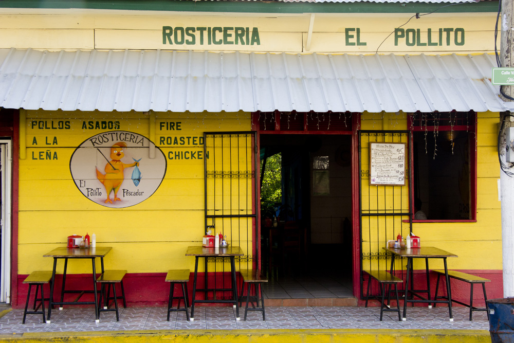
MULTIPOLYGON (((201 244, 204 234, 203 159, 168 159, 166 176, 151 197, 132 207, 104 207, 90 201, 77 189, 69 163, 72 153, 85 139, 111 130, 84 130, 83 122, 119 121, 119 130, 149 137, 150 116, 136 112, 22 110, 23 113, 26 113, 24 143, 27 148, 26 158, 20 160, 19 173, 19 274, 51 270, 52 260, 43 255, 64 246, 70 234, 85 235, 86 232, 96 233, 98 246, 113 247, 105 258, 106 268, 127 269, 129 273, 194 268, 194 258, 184 254, 187 246, 201 244), (70 129, 38 129, 39 125, 32 128, 33 121, 44 121, 51 128, 52 121, 57 125, 61 120, 68 120, 70 129), (52 159, 39 159, 39 152, 43 151, 46 156, 47 150, 52 159)), ((176 150, 203 151, 203 146, 161 145, 161 136, 203 137, 204 131, 249 131, 251 128, 250 114, 242 112, 155 113, 155 117, 154 143, 165 156, 176 150), (182 130, 161 130, 159 122, 166 121, 181 122, 182 130)), ((243 241, 241 246, 245 255, 252 254, 251 242, 243 241)), ((62 270, 62 265, 60 268, 62 270)), ((70 268, 71 273, 90 272, 87 262, 73 263, 70 268)))

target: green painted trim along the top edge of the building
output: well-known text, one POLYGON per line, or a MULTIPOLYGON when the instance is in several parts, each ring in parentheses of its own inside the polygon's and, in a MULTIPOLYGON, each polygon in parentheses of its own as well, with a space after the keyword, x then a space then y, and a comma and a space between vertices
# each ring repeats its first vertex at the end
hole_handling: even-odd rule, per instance
POLYGON ((234 13, 477 13, 497 12, 498 0, 460 5, 427 3, 284 3, 279 1, 224 0, 0 0, 0 8, 101 9, 134 11, 188 11, 234 13))

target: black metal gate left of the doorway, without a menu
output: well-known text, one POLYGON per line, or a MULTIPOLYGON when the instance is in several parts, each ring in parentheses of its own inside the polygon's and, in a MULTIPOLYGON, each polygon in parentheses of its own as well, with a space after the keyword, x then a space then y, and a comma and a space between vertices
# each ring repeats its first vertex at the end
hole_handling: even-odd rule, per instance
MULTIPOLYGON (((204 156, 206 232, 221 232, 229 244, 243 249, 245 256, 236 259, 239 268, 255 267, 259 261, 256 133, 206 132, 204 156)), ((211 262, 222 262, 225 270, 223 258, 211 262)))

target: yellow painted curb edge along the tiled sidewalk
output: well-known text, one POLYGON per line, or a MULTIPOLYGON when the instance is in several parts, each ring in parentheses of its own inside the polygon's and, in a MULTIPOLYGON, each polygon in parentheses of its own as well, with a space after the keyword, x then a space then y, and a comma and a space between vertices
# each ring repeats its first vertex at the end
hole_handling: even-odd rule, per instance
POLYGON ((490 343, 486 330, 142 330, 109 332, 52 332, 0 335, 2 342, 65 343, 490 343))

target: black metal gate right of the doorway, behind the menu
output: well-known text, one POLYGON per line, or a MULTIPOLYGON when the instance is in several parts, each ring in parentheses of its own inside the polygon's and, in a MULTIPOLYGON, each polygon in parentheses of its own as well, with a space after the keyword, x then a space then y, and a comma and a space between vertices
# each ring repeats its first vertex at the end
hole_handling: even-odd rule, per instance
MULTIPOLYGON (((412 231, 411 132, 360 131, 359 168, 362 297, 362 270, 389 270, 388 256, 383 247, 388 240, 395 240, 398 233, 405 238, 412 231), (370 144, 373 142, 405 143, 405 185, 370 185, 370 144)), ((396 259, 394 268, 401 271, 402 263, 396 259)))

